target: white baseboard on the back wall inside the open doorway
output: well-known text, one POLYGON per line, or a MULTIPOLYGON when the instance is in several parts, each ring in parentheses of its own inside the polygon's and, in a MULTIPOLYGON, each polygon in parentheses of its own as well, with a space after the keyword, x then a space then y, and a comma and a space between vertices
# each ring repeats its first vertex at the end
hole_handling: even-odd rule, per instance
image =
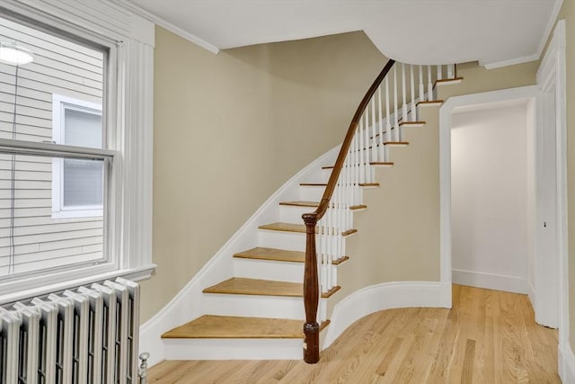
POLYGON ((454 284, 470 285, 488 290, 505 290, 513 293, 529 293, 526 279, 494 273, 453 270, 454 284))

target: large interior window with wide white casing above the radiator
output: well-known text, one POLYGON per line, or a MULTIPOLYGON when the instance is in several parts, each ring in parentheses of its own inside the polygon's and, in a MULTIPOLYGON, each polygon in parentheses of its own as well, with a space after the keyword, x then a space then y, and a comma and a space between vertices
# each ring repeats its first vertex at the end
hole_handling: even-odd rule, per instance
POLYGON ((154 24, 111 2, 0 14, 0 49, 33 57, 0 52, 0 304, 149 277, 154 24))

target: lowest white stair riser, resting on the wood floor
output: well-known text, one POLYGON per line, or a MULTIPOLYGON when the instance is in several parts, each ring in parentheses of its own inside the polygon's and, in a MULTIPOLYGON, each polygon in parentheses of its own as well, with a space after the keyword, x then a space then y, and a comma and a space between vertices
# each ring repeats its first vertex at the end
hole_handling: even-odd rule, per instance
POLYGON ((164 339, 166 360, 301 360, 303 339, 164 339))

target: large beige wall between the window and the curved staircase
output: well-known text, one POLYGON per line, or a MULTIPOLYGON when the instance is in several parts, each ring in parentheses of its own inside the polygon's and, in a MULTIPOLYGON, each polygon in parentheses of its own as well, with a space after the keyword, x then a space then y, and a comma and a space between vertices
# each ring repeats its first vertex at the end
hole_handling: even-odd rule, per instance
POLYGON ((337 145, 385 58, 363 32, 229 49, 155 35, 154 262, 142 321, 337 145))

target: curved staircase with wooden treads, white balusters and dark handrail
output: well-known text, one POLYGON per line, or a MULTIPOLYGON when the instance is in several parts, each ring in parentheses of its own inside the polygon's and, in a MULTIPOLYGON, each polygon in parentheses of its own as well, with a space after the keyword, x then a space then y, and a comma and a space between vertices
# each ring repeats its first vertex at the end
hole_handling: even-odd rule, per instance
POLYGON ((268 215, 279 220, 257 226, 257 246, 229 255, 233 276, 202 287, 204 315, 162 335, 166 357, 300 360, 304 345, 305 361, 316 362, 314 337, 330 325, 328 300, 341 290, 337 272, 356 256, 346 254, 345 241, 360 236, 353 216, 368 208, 363 190, 379 187, 375 168, 394 166, 389 148, 409 146, 404 129, 425 129, 419 111, 441 105, 438 86, 459 81, 455 66, 390 60, 358 108, 338 158, 318 166, 313 179, 294 188, 292 199, 279 201, 268 215), (310 212, 322 208, 310 227, 310 212))

